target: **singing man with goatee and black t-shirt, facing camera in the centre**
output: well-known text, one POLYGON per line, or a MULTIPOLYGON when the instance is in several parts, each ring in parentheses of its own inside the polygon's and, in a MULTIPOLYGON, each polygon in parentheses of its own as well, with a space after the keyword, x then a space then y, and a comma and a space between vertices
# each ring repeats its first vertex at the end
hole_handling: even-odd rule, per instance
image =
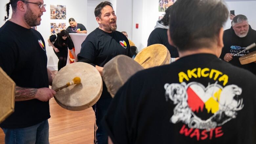
MULTIPOLYGON (((94 11, 99 27, 92 31, 84 40, 78 55, 79 62, 86 62, 96 67, 102 75, 103 66, 113 57, 124 54, 130 55, 129 41, 117 29, 117 16, 110 2, 101 2, 94 11)), ((96 115, 96 143, 107 143, 107 134, 101 126, 101 119, 105 115, 112 97, 108 93, 105 83, 100 99, 93 106, 96 115)))

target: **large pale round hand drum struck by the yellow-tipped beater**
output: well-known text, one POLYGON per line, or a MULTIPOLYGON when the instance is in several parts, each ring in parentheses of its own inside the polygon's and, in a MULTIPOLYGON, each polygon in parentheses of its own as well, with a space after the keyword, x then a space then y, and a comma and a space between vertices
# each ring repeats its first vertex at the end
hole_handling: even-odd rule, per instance
POLYGON ((66 85, 74 77, 81 83, 64 88, 54 95, 56 102, 67 110, 82 111, 93 106, 102 93, 102 78, 96 68, 83 62, 75 62, 62 68, 53 78, 52 89, 66 85))

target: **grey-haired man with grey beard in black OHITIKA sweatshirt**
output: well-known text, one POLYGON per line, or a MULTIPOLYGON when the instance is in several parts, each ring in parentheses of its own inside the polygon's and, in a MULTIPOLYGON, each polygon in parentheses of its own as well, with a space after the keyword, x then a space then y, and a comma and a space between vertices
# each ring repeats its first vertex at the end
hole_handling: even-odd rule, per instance
POLYGON ((256 51, 256 47, 237 54, 238 52, 243 51, 250 44, 256 43, 255 37, 256 31, 249 25, 247 17, 242 14, 236 15, 232 20, 231 28, 224 31, 224 48, 220 58, 256 74, 256 63, 241 65, 239 61, 239 57, 256 51))

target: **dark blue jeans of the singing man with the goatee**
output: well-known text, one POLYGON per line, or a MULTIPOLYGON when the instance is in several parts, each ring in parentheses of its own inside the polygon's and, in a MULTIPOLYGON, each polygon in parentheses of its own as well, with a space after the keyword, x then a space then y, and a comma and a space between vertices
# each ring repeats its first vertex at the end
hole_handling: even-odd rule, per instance
POLYGON ((112 100, 112 97, 100 98, 95 105, 93 105, 93 110, 95 111, 96 116, 96 144, 107 144, 108 143, 108 134, 104 129, 101 120, 104 115, 106 115, 108 106, 112 100), (96 109, 95 109, 96 108, 96 109))

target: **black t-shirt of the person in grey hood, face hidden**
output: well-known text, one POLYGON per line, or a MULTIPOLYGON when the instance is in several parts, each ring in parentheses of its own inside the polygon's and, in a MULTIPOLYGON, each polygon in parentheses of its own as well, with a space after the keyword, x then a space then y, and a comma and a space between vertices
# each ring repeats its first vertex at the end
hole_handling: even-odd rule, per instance
POLYGON ((172 58, 179 57, 177 48, 175 48, 174 46, 171 46, 168 42, 167 29, 156 28, 150 33, 148 37, 147 46, 150 46, 153 44, 162 44, 169 50, 172 58))

